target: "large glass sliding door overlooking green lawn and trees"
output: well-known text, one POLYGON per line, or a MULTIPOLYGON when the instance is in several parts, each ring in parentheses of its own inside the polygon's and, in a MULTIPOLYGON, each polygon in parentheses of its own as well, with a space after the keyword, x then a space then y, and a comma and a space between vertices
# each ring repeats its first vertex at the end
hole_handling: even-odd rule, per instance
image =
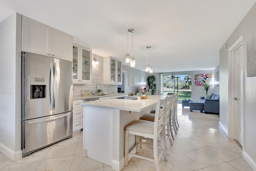
POLYGON ((161 74, 161 94, 178 93, 178 100, 192 98, 191 73, 164 73, 161 74))

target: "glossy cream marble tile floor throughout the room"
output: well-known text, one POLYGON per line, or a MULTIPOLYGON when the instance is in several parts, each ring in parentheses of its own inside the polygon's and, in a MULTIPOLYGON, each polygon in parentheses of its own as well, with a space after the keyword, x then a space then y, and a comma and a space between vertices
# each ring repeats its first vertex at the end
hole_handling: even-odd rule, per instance
MULTIPOLYGON (((218 126, 219 115, 202 114, 178 104, 180 128, 168 161, 160 160, 162 171, 252 171, 242 158, 240 147, 218 126)), ((112 171, 108 165, 90 159, 83 149, 82 132, 50 147, 11 161, 0 153, 0 171, 112 171)), ((152 157, 143 146, 139 153, 152 157)), ((122 171, 155 171, 154 162, 133 157, 122 171)))

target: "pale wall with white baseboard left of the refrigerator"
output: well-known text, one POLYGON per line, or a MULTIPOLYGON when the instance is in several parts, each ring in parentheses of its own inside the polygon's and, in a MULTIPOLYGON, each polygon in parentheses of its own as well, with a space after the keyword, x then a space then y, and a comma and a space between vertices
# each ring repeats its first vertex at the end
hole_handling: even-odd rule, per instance
POLYGON ((21 142, 21 15, 0 23, 0 151, 22 157, 21 142))

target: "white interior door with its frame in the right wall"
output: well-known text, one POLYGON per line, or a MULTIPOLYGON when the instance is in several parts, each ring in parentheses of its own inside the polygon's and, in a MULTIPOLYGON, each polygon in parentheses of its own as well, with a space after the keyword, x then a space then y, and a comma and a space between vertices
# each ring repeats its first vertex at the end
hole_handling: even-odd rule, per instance
POLYGON ((230 80, 229 80, 229 126, 228 137, 237 140, 243 146, 244 128, 244 70, 242 37, 229 49, 230 80))

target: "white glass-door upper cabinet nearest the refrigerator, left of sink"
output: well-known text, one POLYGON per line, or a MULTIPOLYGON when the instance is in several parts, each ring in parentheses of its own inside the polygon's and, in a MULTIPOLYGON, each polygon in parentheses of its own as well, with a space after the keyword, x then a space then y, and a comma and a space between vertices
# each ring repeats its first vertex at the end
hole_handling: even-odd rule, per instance
POLYGON ((92 49, 73 44, 73 83, 92 83, 92 49))

